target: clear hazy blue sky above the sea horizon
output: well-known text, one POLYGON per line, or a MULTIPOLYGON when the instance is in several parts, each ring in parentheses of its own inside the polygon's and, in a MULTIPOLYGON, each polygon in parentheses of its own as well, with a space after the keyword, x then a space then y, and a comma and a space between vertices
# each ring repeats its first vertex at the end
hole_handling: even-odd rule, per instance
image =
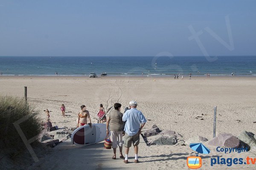
POLYGON ((0 0, 0 56, 203 56, 189 26, 209 55, 256 55, 255 9, 256 0, 0 0), (233 47, 207 27, 227 45, 230 33, 233 47))

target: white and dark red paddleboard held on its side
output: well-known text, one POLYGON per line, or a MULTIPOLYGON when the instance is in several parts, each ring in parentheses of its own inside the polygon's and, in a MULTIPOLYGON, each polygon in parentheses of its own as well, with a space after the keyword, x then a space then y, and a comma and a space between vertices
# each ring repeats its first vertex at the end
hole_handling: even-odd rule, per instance
MULTIPOLYGON (((110 133, 109 133, 110 136, 110 133)), ((71 142, 76 145, 90 145, 102 142, 106 137, 106 124, 84 125, 73 131, 71 142)))

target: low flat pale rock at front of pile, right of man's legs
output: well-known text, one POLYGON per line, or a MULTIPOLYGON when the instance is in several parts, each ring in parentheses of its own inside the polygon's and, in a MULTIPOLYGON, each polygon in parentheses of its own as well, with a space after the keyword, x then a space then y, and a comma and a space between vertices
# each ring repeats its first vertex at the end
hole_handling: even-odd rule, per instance
POLYGON ((158 136, 148 142, 150 145, 174 145, 177 143, 176 136, 158 136))

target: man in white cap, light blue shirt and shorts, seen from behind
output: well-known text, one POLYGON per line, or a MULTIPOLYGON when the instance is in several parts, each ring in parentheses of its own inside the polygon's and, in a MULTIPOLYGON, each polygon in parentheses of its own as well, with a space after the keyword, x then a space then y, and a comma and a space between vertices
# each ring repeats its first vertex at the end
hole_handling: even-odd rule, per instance
POLYGON ((127 110, 122 117, 122 121, 125 122, 125 164, 128 163, 128 153, 129 148, 131 147, 131 143, 134 145, 135 163, 139 163, 138 145, 140 143, 140 133, 145 123, 147 122, 141 111, 136 109, 137 102, 131 101, 129 102, 129 105, 131 109, 127 110))

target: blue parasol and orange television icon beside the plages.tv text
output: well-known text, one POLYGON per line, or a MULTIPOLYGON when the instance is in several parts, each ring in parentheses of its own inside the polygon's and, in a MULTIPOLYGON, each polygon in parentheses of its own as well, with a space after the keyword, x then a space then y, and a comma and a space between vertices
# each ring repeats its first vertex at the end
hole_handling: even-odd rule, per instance
MULTIPOLYGON (((190 148, 198 153, 202 154, 208 154, 210 153, 210 150, 204 146, 202 143, 191 143, 190 148)), ((200 156, 198 156, 198 153, 196 153, 196 156, 189 156, 187 157, 187 165, 191 169, 198 169, 202 166, 202 159, 200 156)))

